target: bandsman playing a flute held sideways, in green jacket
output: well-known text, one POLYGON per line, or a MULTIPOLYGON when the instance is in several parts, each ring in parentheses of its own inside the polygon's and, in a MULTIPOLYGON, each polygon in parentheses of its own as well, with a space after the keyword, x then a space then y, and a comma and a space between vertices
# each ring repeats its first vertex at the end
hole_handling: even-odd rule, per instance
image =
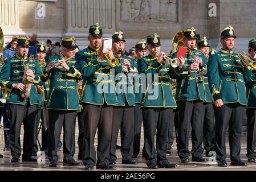
POLYGON ((78 80, 82 76, 76 69, 76 42, 74 37, 62 38, 62 53, 51 57, 44 69, 42 81, 50 80, 50 92, 47 101, 49 115, 48 159, 49 167, 56 167, 58 161, 58 142, 62 127, 63 164, 79 166, 74 160, 75 151, 75 119, 80 110, 78 80))

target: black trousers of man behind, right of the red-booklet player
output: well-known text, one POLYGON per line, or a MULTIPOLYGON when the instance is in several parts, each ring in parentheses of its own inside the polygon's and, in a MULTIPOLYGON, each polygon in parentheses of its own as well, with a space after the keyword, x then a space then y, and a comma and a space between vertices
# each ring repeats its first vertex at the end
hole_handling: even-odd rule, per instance
POLYGON ((209 154, 210 151, 214 151, 214 131, 215 127, 215 118, 214 110, 212 103, 204 102, 204 148, 206 154, 209 154))

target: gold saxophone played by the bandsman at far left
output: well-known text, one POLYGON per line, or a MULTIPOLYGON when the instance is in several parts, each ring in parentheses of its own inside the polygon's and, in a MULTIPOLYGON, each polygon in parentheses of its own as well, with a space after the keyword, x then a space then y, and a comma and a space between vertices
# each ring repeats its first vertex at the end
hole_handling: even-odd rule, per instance
POLYGON ((29 60, 27 61, 27 64, 25 65, 24 74, 22 78, 22 84, 25 85, 25 89, 21 91, 21 97, 22 98, 29 98, 30 96, 30 90, 33 82, 35 81, 34 78, 31 76, 27 76, 27 71, 29 70, 29 60))

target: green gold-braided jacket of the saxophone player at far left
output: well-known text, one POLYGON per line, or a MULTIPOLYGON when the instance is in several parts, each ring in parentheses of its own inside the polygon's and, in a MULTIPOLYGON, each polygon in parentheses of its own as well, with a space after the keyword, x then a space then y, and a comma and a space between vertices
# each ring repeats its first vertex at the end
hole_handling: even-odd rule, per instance
MULTIPOLYGON (((16 54, 14 57, 11 57, 5 61, 5 65, 2 68, 0 73, 0 80, 2 88, 11 89, 10 96, 6 100, 10 104, 19 104, 25 105, 26 99, 21 97, 21 91, 19 89, 12 89, 11 85, 18 84, 22 82, 24 75, 25 65, 29 61, 30 69, 35 75, 34 84, 38 84, 40 81, 41 68, 36 59, 28 59, 25 57, 19 56, 16 54)), ((29 101, 31 105, 38 104, 38 94, 36 91, 36 86, 32 84, 29 101)))

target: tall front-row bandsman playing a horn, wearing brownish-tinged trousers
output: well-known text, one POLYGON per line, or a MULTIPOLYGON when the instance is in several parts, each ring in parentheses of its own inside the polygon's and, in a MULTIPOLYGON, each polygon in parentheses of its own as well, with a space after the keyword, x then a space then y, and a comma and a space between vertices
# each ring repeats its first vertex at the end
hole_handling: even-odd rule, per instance
MULTIPOLYGON (((87 170, 94 168, 115 169, 109 165, 113 105, 117 104, 115 80, 111 67, 104 57, 100 44, 103 37, 99 23, 90 26, 88 48, 76 53, 78 69, 83 75, 83 90, 80 103, 83 106, 84 144, 83 163, 87 170), (97 161, 94 138, 98 129, 97 161)), ((111 50, 107 55, 113 56, 111 50)))

